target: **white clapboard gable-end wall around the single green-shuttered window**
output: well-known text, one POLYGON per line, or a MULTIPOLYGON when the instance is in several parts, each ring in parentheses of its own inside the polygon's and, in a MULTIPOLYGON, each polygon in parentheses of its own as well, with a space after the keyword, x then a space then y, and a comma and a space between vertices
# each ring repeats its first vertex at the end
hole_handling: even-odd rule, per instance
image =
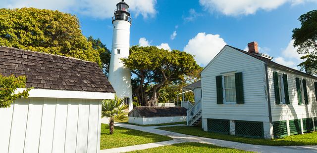
POLYGON ((262 61, 224 47, 202 72, 203 118, 268 121, 264 84, 262 61), (242 72, 244 104, 216 104, 215 76, 227 72, 242 72))

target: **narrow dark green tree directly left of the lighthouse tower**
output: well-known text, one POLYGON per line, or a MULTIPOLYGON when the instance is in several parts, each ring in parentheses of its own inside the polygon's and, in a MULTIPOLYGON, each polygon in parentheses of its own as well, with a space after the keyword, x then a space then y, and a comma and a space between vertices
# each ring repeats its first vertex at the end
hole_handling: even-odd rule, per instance
POLYGON ((100 38, 94 39, 92 36, 90 36, 88 37, 88 41, 91 42, 93 48, 99 52, 103 72, 106 76, 108 76, 111 56, 110 50, 106 47, 105 44, 103 44, 100 38))

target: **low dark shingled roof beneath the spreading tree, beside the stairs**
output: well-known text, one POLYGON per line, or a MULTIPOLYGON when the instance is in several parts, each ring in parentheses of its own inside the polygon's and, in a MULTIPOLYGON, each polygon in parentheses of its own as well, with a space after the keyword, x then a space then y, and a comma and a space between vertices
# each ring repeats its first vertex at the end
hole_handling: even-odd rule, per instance
POLYGON ((186 116, 187 109, 183 107, 135 107, 129 113, 132 116, 133 112, 137 111, 142 117, 167 117, 167 116, 186 116))

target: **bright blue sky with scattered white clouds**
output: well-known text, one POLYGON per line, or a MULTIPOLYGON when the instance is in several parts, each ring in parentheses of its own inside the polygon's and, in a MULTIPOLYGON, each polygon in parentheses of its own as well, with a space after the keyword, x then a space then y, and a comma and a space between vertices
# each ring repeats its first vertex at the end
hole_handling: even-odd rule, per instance
MULTIPOLYGON (((2 7, 37 7, 75 14, 85 36, 100 38, 111 49, 111 16, 120 0, 4 0, 2 7)), ((260 52, 296 68, 292 30, 317 0, 125 0, 132 14, 131 45, 157 45, 194 54, 205 66, 229 44, 245 49, 257 41, 260 52), (173 35, 174 33, 174 35, 173 35), (173 36, 172 36, 173 35, 173 36), (163 43, 163 44, 162 44, 163 43)))

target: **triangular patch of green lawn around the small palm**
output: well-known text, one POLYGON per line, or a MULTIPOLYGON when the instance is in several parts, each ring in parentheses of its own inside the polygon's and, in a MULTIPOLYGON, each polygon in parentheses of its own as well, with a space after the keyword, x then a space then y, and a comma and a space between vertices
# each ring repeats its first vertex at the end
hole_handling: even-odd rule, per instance
POLYGON ((100 139, 101 150, 172 140, 167 136, 117 126, 114 127, 113 135, 109 135, 107 124, 101 124, 100 139))

